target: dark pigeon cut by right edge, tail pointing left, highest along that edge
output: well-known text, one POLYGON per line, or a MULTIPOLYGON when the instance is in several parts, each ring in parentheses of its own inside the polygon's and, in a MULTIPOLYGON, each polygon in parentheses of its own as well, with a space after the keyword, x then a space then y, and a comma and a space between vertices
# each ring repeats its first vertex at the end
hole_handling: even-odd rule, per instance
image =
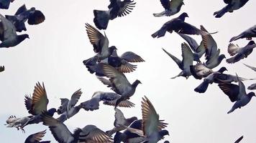
POLYGON ((235 41, 237 39, 244 39, 244 38, 251 40, 252 37, 256 37, 256 25, 252 26, 250 29, 243 31, 238 36, 232 37, 232 39, 230 39, 229 42, 235 41))

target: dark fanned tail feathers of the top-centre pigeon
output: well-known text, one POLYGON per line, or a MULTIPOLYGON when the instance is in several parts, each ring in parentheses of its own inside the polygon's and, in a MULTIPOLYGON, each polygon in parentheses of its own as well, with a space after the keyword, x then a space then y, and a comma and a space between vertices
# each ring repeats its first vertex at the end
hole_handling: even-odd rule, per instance
POLYGON ((93 22, 98 29, 106 29, 109 24, 108 11, 93 10, 94 19, 93 22))

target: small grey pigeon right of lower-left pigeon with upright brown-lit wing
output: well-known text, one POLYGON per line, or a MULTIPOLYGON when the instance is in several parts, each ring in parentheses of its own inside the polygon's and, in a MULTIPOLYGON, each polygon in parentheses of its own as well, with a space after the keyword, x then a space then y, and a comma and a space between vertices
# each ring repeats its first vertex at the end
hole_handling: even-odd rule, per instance
POLYGON ((76 92, 73 93, 71 99, 60 99, 61 105, 58 107, 57 112, 58 114, 65 114, 66 119, 73 117, 75 114, 79 112, 81 106, 76 106, 78 100, 81 97, 81 89, 78 89, 76 92))

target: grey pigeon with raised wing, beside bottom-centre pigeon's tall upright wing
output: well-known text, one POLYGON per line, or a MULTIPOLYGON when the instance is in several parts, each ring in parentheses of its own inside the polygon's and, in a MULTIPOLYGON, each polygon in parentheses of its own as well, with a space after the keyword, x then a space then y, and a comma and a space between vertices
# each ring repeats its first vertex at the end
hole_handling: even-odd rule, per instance
POLYGON ((129 127, 130 124, 132 124, 132 122, 134 122, 135 120, 137 120, 137 117, 131 117, 126 119, 124 117, 123 112, 120 109, 114 109, 115 110, 115 114, 114 114, 114 128, 106 131, 107 134, 109 134, 110 136, 116 132, 120 132, 124 129, 126 129, 124 126, 129 127), (121 124, 121 126, 120 126, 121 124))

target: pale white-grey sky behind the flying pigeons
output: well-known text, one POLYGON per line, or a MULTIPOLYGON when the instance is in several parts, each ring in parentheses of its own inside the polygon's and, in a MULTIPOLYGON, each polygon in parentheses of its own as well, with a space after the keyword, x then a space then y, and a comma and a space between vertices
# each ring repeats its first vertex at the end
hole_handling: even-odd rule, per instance
MULTIPOLYGON (((122 18, 109 21, 106 36, 110 46, 118 49, 118 54, 133 51, 142 56, 145 62, 139 63, 137 70, 126 74, 130 82, 140 79, 142 84, 137 87, 134 96, 130 99, 136 104, 134 108, 122 109, 125 117, 137 116, 142 118, 141 101, 147 96, 154 105, 160 119, 168 123, 170 136, 165 139, 170 142, 197 142, 216 143, 234 142, 244 135, 242 142, 256 142, 256 99, 242 109, 237 109, 232 114, 227 114, 233 103, 221 92, 216 84, 209 86, 204 94, 193 91, 201 81, 185 79, 183 77, 170 79, 180 72, 175 62, 165 54, 165 48, 171 54, 181 58, 180 44, 184 42, 178 34, 167 33, 160 39, 152 39, 151 34, 160 29, 166 21, 177 17, 183 11, 188 13, 186 21, 194 26, 204 27, 208 31, 219 31, 212 35, 221 49, 221 54, 226 54, 229 39, 240 34, 245 29, 256 24, 256 1, 247 4, 233 13, 225 14, 221 19, 213 16, 224 2, 184 0, 185 6, 179 14, 170 17, 156 18, 152 13, 163 11, 160 1, 141 1, 131 14, 122 18), (249 18, 251 17, 251 18, 249 18)), ((109 1, 102 0, 55 0, 55 1, 14 1, 8 10, 0 10, 1 14, 14 14, 15 11, 26 4, 27 8, 34 6, 45 14, 45 21, 37 26, 27 25, 30 39, 22 41, 18 46, 9 49, 0 49, 0 65, 6 70, 0 73, 0 137, 1 142, 23 142, 29 134, 40 132, 48 127, 33 124, 24 129, 26 133, 17 129, 6 128, 6 119, 10 115, 17 117, 28 116, 24 106, 24 95, 32 94, 37 82, 44 82, 49 99, 48 107, 58 108, 60 98, 70 98, 73 92, 81 89, 83 94, 78 104, 90 99, 93 92, 111 92, 95 75, 90 74, 83 66, 83 60, 93 56, 91 46, 85 29, 85 23, 93 24, 93 9, 104 10, 109 1)), ((104 31, 101 31, 102 33, 104 31)), ((193 36, 201 41, 201 36, 193 36)), ((245 46, 245 39, 234 41, 234 44, 245 46)), ((256 66, 256 53, 239 61, 236 64, 227 64, 223 61, 221 66, 226 66, 228 74, 237 73, 240 77, 256 78, 255 71, 248 69, 244 64, 256 66)), ((248 87, 256 81, 244 82, 248 87)), ((55 116, 58 117, 58 116, 55 116)), ((74 117, 65 122, 72 132, 76 127, 85 127, 95 124, 102 130, 109 130, 114 123, 114 107, 101 103, 99 110, 86 112, 83 109, 74 117)), ((50 130, 43 140, 52 137, 50 130)))

